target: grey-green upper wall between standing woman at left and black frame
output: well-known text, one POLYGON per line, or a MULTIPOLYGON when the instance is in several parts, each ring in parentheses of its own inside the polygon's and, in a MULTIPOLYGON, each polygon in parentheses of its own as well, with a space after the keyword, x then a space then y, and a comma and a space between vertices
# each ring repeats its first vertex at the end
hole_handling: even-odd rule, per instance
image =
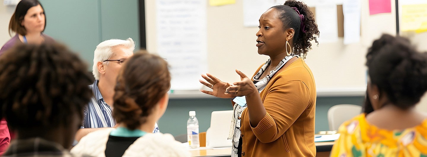
POLYGON ((92 71, 94 50, 102 41, 135 40, 139 49, 138 0, 40 0, 46 14, 45 34, 66 43, 92 71))

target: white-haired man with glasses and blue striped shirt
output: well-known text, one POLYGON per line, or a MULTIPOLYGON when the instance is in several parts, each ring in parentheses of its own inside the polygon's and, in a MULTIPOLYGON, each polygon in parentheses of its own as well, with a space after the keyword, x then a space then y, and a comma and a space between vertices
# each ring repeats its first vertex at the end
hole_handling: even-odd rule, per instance
MULTIPOLYGON (((94 96, 85 107, 82 128, 76 133, 77 141, 92 131, 116 125, 111 114, 114 109, 114 86, 120 69, 126 59, 132 57, 134 49, 135 42, 132 38, 105 40, 95 49, 92 71, 95 82, 89 86, 94 96)), ((153 132, 158 132, 157 124, 153 132)))

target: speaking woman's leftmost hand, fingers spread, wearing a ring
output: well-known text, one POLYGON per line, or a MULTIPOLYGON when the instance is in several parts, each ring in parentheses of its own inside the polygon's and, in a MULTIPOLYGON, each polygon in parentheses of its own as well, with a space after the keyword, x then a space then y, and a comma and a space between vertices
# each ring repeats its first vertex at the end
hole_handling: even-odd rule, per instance
POLYGON ((202 77, 207 82, 205 82, 203 80, 199 80, 200 83, 211 88, 213 91, 206 91, 203 89, 200 89, 199 91, 202 91, 203 93, 213 95, 215 97, 220 97, 220 98, 232 98, 233 97, 232 95, 225 93, 225 89, 228 88, 229 86, 231 86, 230 83, 222 82, 221 80, 217 79, 216 77, 214 77, 211 74, 206 74, 206 75, 202 74, 202 77))

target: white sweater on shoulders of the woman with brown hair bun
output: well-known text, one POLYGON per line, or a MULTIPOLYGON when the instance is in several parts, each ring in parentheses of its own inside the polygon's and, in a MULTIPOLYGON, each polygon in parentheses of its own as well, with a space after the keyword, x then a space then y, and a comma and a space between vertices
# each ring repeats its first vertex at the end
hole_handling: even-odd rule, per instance
MULTIPOLYGON (((111 129, 94 131, 83 137, 71 149, 76 156, 89 155, 105 157, 105 147, 111 129)), ((147 133, 126 149, 123 157, 190 157, 190 152, 182 143, 175 141, 171 134, 147 133)))

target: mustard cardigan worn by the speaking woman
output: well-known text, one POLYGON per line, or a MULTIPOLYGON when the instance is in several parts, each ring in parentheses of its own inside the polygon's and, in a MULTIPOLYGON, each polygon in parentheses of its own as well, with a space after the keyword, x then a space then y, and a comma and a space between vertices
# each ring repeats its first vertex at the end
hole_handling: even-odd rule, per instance
POLYGON ((278 71, 260 97, 267 113, 255 128, 242 113, 242 157, 315 157, 316 84, 304 60, 278 71))

